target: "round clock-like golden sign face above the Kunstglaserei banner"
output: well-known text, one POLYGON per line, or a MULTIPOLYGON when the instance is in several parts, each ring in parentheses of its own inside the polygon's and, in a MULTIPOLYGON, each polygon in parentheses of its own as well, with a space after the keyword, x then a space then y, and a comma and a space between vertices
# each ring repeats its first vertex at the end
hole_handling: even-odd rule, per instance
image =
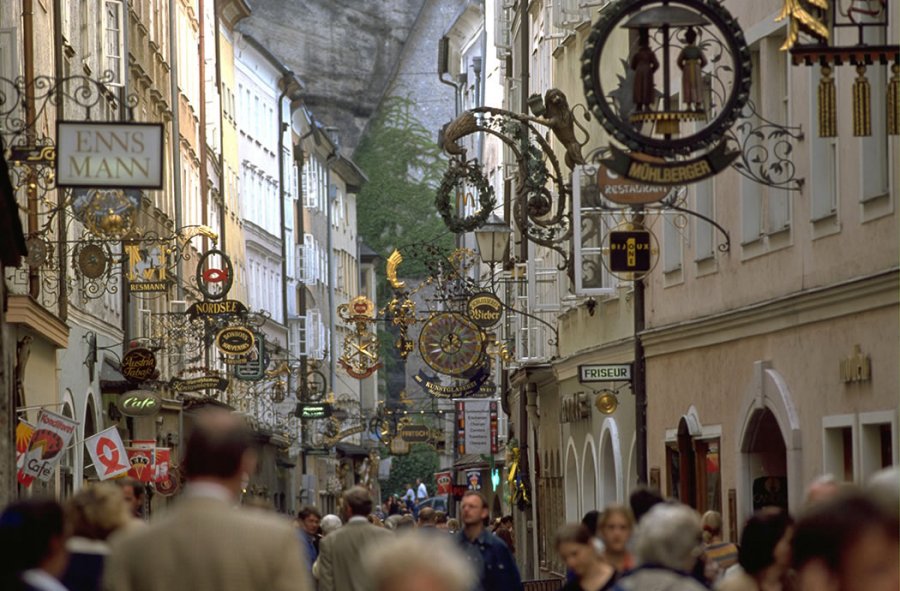
POLYGON ((419 335, 419 352, 428 366, 442 374, 458 376, 472 369, 484 353, 484 333, 456 312, 429 318, 419 335))

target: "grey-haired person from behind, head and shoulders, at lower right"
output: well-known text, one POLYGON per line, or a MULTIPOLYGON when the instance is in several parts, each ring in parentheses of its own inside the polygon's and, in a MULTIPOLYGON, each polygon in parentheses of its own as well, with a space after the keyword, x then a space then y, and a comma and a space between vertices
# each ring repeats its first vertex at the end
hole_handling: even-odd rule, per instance
POLYGON ((621 579, 616 591, 703 591, 688 574, 703 552, 700 516, 684 505, 655 505, 637 528, 638 568, 621 579))

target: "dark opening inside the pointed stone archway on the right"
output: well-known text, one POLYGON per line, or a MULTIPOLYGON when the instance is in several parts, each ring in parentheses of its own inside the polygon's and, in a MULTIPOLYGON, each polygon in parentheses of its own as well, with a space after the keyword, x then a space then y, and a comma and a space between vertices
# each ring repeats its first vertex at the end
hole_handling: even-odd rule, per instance
POLYGON ((787 448, 775 414, 768 408, 751 416, 741 441, 750 479, 752 505, 756 511, 766 506, 788 508, 787 448))

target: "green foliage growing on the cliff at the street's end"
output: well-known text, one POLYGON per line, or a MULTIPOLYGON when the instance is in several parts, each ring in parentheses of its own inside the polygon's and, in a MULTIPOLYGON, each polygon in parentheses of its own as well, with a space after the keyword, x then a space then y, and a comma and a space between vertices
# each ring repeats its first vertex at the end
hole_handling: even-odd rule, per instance
MULTIPOLYGON (((358 230, 366 244, 387 258, 398 247, 430 242, 453 248, 434 207, 434 194, 444 173, 445 159, 435 137, 411 112, 413 101, 392 96, 381 104, 354 154, 369 177, 357 199, 358 230)), ((405 251, 400 274, 421 279, 425 266, 405 251)), ((379 286, 379 304, 387 296, 379 286)))

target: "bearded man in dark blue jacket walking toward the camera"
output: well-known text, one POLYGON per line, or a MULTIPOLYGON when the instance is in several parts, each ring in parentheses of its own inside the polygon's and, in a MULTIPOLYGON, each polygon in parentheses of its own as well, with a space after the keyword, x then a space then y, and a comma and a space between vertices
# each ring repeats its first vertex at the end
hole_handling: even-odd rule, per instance
POLYGON ((457 543, 478 576, 473 591, 522 591, 519 569, 506 543, 486 528, 488 502, 480 492, 470 490, 460 503, 463 531, 457 543))

